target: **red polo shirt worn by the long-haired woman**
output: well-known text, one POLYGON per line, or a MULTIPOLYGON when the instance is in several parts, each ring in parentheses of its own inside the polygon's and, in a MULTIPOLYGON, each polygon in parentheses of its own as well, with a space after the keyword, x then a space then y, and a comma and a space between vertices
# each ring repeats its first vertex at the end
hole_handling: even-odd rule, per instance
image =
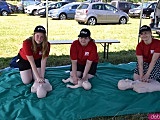
MULTIPOLYGON (((26 57, 26 55, 27 56, 33 56, 33 58, 35 60, 42 57, 42 48, 38 47, 37 48, 37 52, 33 53, 32 46, 33 45, 32 45, 32 41, 31 40, 25 40, 25 41, 23 41, 23 46, 20 49, 19 54, 21 55, 21 57, 24 60, 28 60, 27 57, 26 57)), ((49 47, 49 50, 48 50, 48 54, 47 54, 46 57, 48 57, 49 51, 50 51, 50 43, 49 42, 48 42, 48 47, 49 47)))

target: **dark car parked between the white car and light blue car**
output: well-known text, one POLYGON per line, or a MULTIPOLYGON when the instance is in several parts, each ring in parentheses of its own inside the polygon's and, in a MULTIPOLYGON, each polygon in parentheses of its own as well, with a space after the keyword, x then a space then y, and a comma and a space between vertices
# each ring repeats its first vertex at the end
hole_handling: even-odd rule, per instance
MULTIPOLYGON (((70 2, 63 2, 63 1, 59 1, 59 2, 51 2, 49 4, 48 7, 48 11, 52 10, 52 9, 58 9, 66 4, 68 4, 70 2)), ((41 8, 37 10, 37 13, 40 17, 46 17, 46 8, 41 8)))

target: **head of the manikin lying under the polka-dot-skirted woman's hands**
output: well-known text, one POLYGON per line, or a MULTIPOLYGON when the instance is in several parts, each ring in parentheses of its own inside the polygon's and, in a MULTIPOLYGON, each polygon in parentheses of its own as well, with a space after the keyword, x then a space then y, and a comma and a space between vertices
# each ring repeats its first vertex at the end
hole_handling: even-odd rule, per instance
POLYGON ((118 88, 120 90, 126 90, 126 89, 130 89, 133 88, 133 81, 129 80, 129 79, 122 79, 118 82, 118 88))

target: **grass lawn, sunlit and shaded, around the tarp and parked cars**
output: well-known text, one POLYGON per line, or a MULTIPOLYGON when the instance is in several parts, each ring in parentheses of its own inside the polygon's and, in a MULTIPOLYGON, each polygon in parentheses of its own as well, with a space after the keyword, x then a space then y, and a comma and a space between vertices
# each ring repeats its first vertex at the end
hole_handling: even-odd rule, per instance
MULTIPOLYGON (((31 36, 35 26, 46 27, 46 18, 12 14, 0 16, 0 69, 8 67, 12 57, 17 55, 23 40, 31 36)), ((130 18, 128 24, 79 25, 75 20, 51 20, 48 18, 49 40, 75 40, 82 28, 88 28, 94 39, 117 39, 120 43, 110 46, 109 59, 103 59, 103 47, 98 46, 100 62, 113 64, 136 61, 135 47, 138 43, 139 19, 130 18)), ((149 25, 150 19, 143 19, 142 25, 149 25)), ((52 45, 47 66, 70 64, 70 45, 52 45)), ((98 117, 90 120, 147 120, 147 114, 136 114, 117 117, 98 117)))

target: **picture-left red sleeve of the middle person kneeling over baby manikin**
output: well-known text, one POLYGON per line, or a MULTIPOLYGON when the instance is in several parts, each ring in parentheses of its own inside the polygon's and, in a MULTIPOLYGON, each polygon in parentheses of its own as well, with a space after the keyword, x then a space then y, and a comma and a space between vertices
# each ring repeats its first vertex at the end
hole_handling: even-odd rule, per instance
POLYGON ((74 41, 70 47, 70 59, 77 60, 77 43, 74 41))

